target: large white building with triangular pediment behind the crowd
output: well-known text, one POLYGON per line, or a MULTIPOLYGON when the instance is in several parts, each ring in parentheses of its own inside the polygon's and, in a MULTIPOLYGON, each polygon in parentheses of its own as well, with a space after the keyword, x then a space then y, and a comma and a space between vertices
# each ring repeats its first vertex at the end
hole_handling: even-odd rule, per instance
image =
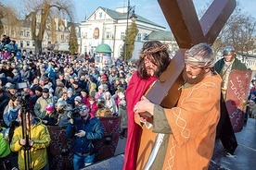
MULTIPOLYGON (((132 12, 130 12, 132 13, 132 12)), ((131 16, 132 14, 130 14, 131 16)), ((164 27, 136 15, 135 23, 139 30, 134 44, 133 58, 138 58, 144 40, 152 31, 163 31, 164 27)), ((128 25, 132 23, 128 19, 128 25)), ((127 7, 117 8, 116 11, 99 6, 96 11, 87 20, 81 22, 81 49, 80 53, 93 55, 96 46, 106 43, 112 50, 112 59, 121 56, 122 45, 125 39, 125 30, 127 27, 127 7)))

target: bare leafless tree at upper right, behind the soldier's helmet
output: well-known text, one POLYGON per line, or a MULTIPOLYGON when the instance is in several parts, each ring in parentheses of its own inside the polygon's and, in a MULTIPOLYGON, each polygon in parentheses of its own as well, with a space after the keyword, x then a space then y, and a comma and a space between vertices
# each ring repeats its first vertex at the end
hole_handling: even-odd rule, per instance
MULTIPOLYGON (((204 11, 211 5, 209 1, 204 9, 199 10, 199 16, 202 16, 204 11)), ((223 30, 219 33, 216 41, 212 44, 214 51, 217 53, 226 45, 232 45, 236 48, 239 54, 248 53, 255 49, 253 35, 255 35, 255 18, 243 13, 243 7, 237 1, 237 6, 224 25, 223 30)))

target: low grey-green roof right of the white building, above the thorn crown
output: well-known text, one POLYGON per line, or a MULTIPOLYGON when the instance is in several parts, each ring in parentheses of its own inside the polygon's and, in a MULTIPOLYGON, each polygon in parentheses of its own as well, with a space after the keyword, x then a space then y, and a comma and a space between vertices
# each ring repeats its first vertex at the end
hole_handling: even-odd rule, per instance
POLYGON ((172 31, 152 31, 151 33, 149 33, 147 35, 147 37, 145 37, 144 40, 157 40, 157 41, 164 41, 164 40, 175 40, 173 37, 173 33, 172 31))

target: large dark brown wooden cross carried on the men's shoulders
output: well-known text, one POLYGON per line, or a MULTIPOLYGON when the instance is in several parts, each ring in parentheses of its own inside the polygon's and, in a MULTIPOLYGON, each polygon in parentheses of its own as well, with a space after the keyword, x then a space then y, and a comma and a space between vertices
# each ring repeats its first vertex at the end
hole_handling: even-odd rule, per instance
POLYGON ((146 97, 153 103, 171 108, 178 101, 179 87, 184 82, 181 73, 186 50, 199 42, 212 44, 234 11, 236 0, 214 0, 200 20, 192 0, 158 1, 180 50, 146 97))

